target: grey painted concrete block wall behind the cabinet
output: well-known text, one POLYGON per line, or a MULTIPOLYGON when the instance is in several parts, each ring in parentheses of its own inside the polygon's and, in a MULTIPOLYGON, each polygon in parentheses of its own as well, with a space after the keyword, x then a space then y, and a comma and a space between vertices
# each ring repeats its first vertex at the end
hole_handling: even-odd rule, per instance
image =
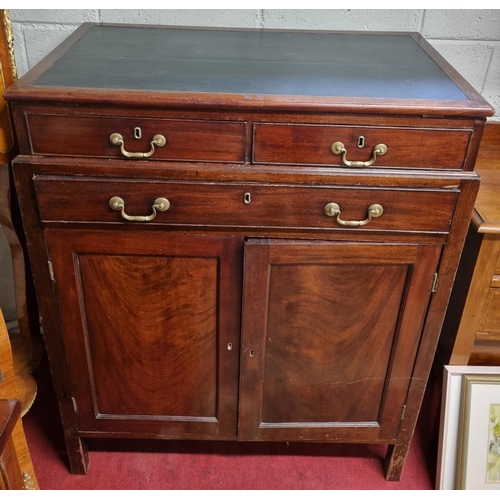
MULTIPOLYGON (((496 109, 500 121, 500 10, 141 10, 10 9, 19 76, 83 22, 321 29, 417 31, 496 109)), ((14 312, 10 252, 0 235, 0 306, 14 312)))

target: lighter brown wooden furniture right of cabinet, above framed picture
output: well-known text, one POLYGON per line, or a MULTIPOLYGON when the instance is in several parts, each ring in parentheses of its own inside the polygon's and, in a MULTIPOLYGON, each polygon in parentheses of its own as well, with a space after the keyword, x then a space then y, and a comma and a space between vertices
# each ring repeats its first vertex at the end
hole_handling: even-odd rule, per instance
POLYGON ((481 186, 443 327, 452 365, 500 365, 500 124, 486 126, 476 162, 481 186))

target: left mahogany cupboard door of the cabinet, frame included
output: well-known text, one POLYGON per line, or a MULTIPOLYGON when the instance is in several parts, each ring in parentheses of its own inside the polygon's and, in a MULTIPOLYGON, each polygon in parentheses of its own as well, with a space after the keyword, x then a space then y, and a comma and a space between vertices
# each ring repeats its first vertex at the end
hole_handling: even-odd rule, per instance
POLYGON ((242 240, 46 231, 79 430, 235 436, 242 240))

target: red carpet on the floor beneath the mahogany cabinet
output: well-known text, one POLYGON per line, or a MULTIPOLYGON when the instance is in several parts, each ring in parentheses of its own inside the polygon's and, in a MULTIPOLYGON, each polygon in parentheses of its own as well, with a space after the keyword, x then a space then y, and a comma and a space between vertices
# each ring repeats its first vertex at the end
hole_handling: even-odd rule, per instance
POLYGON ((385 481, 385 446, 199 441, 88 441, 90 470, 69 473, 46 362, 24 427, 42 490, 420 490, 434 488, 428 432, 418 426, 400 482, 385 481))

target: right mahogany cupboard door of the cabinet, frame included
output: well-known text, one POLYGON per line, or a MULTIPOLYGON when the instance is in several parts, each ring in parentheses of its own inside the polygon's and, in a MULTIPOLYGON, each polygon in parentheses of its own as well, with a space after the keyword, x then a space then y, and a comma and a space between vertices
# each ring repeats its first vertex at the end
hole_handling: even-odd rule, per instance
POLYGON ((248 240, 239 439, 395 439, 440 254, 248 240))

